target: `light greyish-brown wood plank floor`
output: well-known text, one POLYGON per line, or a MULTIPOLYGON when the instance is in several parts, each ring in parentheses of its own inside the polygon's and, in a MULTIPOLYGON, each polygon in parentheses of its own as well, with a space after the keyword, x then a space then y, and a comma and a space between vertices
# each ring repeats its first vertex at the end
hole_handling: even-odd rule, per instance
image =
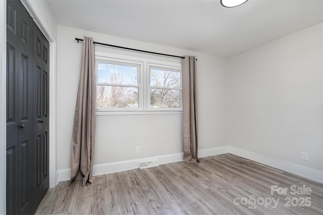
POLYGON ((68 181, 60 182, 47 191, 35 213, 323 214, 323 184, 223 154, 194 164, 178 162, 101 175, 86 186, 81 181, 70 186, 68 181), (288 190, 271 194, 272 185, 288 190), (311 188, 310 194, 308 189, 307 194, 293 194, 294 188, 304 191, 304 185, 311 188))

